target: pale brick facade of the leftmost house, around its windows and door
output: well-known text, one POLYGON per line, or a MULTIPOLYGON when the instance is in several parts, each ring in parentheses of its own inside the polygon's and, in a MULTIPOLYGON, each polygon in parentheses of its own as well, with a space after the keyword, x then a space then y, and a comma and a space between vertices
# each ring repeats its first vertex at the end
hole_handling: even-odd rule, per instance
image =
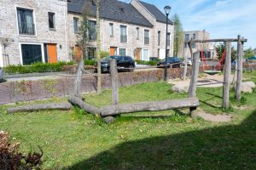
MULTIPOLYGON (((1 0, 0 37, 9 38, 10 44, 3 50, 9 59, 0 55, 0 66, 22 64, 21 43, 40 44, 44 54, 44 44, 56 44, 57 60, 67 60, 67 3, 62 0, 1 0), (32 10, 34 35, 19 33, 17 8, 32 10), (55 30, 49 30, 49 13, 55 14, 55 30)), ((43 55, 42 54, 42 55, 43 55)), ((44 56, 43 56, 44 58, 44 56)), ((44 59, 42 60, 44 61, 44 59)))

